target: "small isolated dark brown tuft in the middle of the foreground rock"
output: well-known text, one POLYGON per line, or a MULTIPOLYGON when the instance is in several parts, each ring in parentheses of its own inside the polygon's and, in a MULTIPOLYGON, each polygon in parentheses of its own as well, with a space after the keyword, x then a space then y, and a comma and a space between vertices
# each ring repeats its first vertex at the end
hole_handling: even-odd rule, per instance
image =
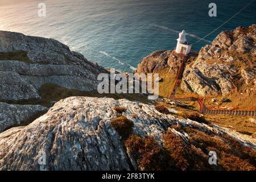
POLYGON ((129 137, 133 132, 133 121, 127 119, 123 115, 112 119, 112 121, 110 121, 110 125, 117 130, 118 134, 121 135, 123 139, 129 137))

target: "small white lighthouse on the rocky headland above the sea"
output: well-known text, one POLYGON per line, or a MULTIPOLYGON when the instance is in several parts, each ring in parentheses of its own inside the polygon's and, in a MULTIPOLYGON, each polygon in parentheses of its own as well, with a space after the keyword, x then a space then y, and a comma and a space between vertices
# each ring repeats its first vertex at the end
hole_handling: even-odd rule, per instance
POLYGON ((191 44, 187 42, 186 35, 187 33, 183 30, 179 34, 179 39, 177 39, 176 52, 183 55, 187 55, 191 51, 191 44))

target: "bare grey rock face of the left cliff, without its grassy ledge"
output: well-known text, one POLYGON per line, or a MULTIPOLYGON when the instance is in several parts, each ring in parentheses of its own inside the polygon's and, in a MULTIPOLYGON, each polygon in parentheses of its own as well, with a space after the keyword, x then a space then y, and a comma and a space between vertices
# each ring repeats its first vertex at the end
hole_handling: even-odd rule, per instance
MULTIPOLYGON (((56 84, 81 91, 95 90, 97 75, 106 72, 57 40, 0 31, 0 52, 16 51, 26 51, 29 61, 2 60, 0 71, 18 73, 16 80, 21 79, 22 84, 29 88, 28 92, 30 89, 39 89, 43 84, 56 84)), ((5 90, 8 89, 11 88, 6 85, 5 90)), ((9 97, 8 100, 20 98, 22 96, 9 97)))

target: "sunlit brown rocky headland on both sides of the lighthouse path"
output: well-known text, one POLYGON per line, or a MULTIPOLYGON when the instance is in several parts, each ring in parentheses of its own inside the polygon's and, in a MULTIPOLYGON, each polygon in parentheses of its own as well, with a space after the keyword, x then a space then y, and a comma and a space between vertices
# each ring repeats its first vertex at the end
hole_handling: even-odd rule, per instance
MULTIPOLYGON (((181 89, 201 96, 255 92, 256 25, 237 27, 221 32, 212 42, 201 48, 199 55, 189 54, 181 89)), ((174 51, 155 51, 144 57, 137 73, 158 72, 169 68, 175 74, 181 58, 174 51)))

